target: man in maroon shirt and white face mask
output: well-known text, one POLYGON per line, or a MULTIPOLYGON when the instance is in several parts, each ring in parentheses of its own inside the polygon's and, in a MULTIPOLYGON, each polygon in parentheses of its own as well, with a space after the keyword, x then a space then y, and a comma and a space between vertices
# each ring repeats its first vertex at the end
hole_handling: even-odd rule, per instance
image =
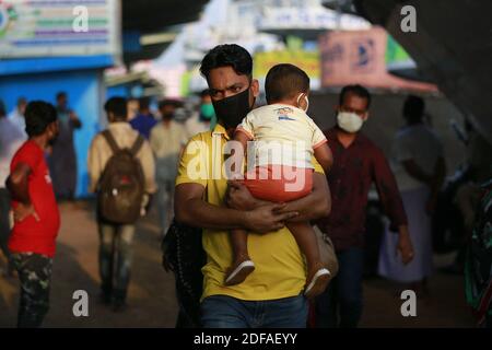
POLYGON ((413 258, 395 177, 384 153, 360 132, 367 120, 370 104, 371 95, 365 88, 344 86, 337 107, 337 126, 325 131, 333 153, 333 166, 327 174, 332 210, 318 226, 333 242, 339 271, 316 300, 317 327, 356 327, 361 318, 365 210, 373 183, 391 228, 399 233, 402 261, 408 264, 413 258))

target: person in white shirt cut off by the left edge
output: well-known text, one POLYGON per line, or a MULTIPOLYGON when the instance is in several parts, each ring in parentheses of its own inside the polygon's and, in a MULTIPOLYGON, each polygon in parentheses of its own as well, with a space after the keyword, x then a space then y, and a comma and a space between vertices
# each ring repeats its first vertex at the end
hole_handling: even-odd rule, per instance
POLYGON ((0 101, 0 249, 8 260, 7 276, 12 276, 14 267, 7 246, 10 235, 10 196, 5 188, 5 180, 10 174, 10 162, 15 151, 27 139, 10 118, 5 116, 5 106, 0 101))

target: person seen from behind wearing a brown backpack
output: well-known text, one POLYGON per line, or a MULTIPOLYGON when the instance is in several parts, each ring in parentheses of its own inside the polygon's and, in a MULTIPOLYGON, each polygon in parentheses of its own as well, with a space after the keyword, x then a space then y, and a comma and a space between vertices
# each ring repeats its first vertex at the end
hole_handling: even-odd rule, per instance
POLYGON ((126 307, 134 224, 156 190, 155 165, 149 142, 127 121, 126 98, 112 97, 104 108, 109 126, 93 139, 87 168, 97 194, 102 301, 118 312, 126 307))

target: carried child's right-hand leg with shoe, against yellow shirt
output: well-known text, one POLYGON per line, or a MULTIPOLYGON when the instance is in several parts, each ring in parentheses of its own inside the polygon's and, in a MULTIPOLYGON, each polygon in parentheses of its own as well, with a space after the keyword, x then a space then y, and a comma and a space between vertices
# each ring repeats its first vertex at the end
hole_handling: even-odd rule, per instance
POLYGON ((328 285, 330 272, 321 262, 316 234, 308 222, 286 222, 285 225, 306 257, 307 281, 305 294, 307 298, 319 295, 328 285))

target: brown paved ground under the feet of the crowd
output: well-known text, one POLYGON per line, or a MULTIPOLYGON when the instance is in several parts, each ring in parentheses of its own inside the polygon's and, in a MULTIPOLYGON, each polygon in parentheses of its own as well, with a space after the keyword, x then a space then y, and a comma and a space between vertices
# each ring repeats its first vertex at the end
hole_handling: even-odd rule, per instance
MULTIPOLYGON (((45 327, 173 327, 176 319, 174 278, 161 267, 159 229, 151 215, 139 224, 136 241, 129 308, 113 313, 98 303, 97 245, 93 210, 89 202, 60 206, 62 224, 54 265, 51 308, 45 327), (73 292, 85 290, 90 298, 89 317, 74 317, 73 292)), ((436 265, 452 256, 436 258, 436 265)), ((0 266, 4 266, 3 257, 0 266)), ((465 304, 462 277, 436 273, 430 280, 431 299, 418 301, 417 317, 400 314, 395 285, 383 280, 365 281, 363 327, 471 327, 465 304)), ((16 279, 0 277, 0 327, 16 320, 16 279)))

